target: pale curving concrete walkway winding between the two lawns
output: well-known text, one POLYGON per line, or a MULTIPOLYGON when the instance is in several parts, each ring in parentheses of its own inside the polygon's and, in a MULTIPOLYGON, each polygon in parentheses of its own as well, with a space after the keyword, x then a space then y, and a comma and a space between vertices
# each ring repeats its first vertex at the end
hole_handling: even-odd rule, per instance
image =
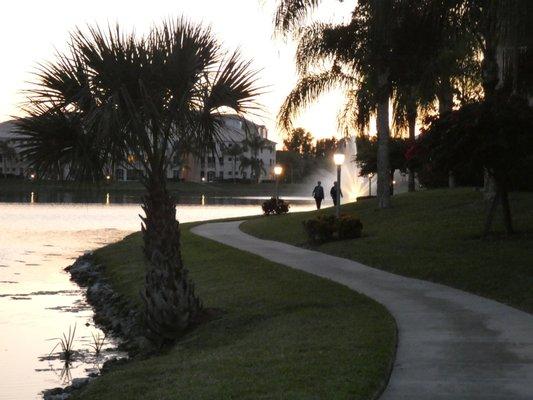
POLYGON ((533 399, 532 315, 443 285, 257 239, 239 230, 241 222, 192 231, 339 282, 387 307, 399 342, 382 400, 533 399))

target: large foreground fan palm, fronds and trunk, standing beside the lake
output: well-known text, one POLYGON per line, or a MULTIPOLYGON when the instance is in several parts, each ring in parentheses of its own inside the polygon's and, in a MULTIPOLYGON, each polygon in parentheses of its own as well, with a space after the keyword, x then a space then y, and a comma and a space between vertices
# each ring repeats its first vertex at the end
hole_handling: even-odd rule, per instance
MULTIPOLYGON (((154 26, 145 37, 118 26, 78 29, 68 48, 41 67, 30 92, 20 123, 29 138, 25 152, 46 170, 52 158, 90 143, 95 176, 102 174, 100 160, 142 167, 144 322, 154 342, 172 341, 202 307, 182 262, 167 167, 180 148, 197 156, 215 151, 226 110, 242 115, 257 108, 256 73, 237 52, 223 52, 209 29, 184 19, 154 26), (33 122, 56 114, 72 123, 74 140, 55 141, 33 122), (47 156, 49 147, 55 151, 47 156)), ((85 161, 69 157, 75 169, 85 161)))

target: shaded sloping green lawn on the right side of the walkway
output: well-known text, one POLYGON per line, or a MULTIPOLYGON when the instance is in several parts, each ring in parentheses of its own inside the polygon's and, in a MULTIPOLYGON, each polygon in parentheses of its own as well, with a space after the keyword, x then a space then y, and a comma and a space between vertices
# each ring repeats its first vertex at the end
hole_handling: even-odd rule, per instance
MULTIPOLYGON (((388 210, 377 210, 375 200, 363 200, 344 205, 342 212, 360 217, 364 237, 316 249, 532 313, 533 193, 512 193, 511 208, 519 233, 482 240, 485 205, 481 193, 473 189, 399 195, 388 210)), ((315 213, 251 219, 241 229, 260 238, 307 246, 302 221, 315 213)), ((499 215, 495 229, 503 232, 499 215)))

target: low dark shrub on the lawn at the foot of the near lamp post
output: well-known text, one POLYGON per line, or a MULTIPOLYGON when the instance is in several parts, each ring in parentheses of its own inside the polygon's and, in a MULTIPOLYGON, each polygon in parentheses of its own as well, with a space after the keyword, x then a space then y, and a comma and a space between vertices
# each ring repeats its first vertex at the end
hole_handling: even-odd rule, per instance
POLYGON ((319 215, 302 222, 311 243, 324 243, 332 240, 355 239, 361 237, 363 224, 358 218, 341 215, 319 215))

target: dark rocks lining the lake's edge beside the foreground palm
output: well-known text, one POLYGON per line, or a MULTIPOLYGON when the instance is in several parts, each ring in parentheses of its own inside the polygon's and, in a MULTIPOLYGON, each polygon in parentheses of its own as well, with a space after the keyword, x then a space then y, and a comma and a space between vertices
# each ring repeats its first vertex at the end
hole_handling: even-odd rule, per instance
MULTIPOLYGON (((87 303, 93 308, 93 320, 106 335, 119 341, 119 349, 128 353, 129 357, 138 356, 143 349, 151 346, 143 336, 138 309, 113 291, 104 274, 105 267, 98 264, 92 252, 78 257, 74 264, 65 268, 71 280, 86 289, 87 303)), ((104 363, 101 374, 111 365, 127 362, 125 358, 113 358, 104 363)), ((70 386, 53 388, 42 392, 44 400, 65 400, 74 392, 83 388, 97 376, 73 379, 70 386)))

